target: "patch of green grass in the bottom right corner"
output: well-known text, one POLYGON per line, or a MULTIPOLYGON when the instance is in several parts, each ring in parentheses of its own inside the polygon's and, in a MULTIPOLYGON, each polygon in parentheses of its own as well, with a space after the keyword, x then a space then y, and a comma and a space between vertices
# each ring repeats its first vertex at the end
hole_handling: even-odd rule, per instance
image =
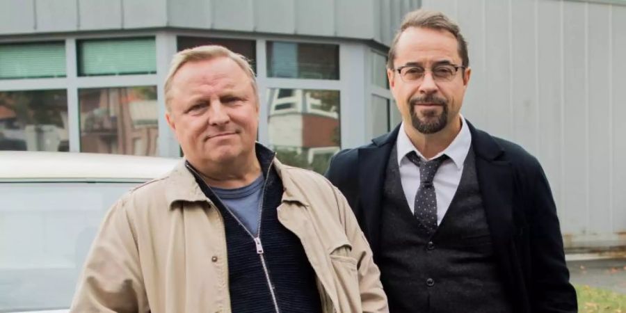
POLYGON ((578 294, 578 310, 581 313, 626 313, 626 294, 575 285, 578 294))

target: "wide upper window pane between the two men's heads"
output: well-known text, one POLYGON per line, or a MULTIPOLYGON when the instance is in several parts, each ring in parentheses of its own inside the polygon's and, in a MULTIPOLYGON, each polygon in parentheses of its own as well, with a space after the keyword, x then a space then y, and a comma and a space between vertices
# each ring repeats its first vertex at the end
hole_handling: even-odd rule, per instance
POLYGON ((267 76, 339 79, 339 46, 267 42, 267 76))

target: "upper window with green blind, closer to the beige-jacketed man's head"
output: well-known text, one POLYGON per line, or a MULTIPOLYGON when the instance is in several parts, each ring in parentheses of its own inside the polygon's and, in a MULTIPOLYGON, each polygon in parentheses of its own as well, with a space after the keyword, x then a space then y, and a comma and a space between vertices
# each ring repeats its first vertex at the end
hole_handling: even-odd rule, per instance
POLYGON ((154 38, 82 40, 77 49, 79 76, 157 73, 154 38))

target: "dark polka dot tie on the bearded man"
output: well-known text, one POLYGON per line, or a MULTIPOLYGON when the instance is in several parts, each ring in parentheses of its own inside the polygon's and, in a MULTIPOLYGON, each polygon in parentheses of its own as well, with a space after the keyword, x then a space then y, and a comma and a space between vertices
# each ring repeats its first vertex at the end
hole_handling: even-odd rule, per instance
POLYGON ((415 195, 413 215, 426 226, 428 232, 434 232, 437 230, 437 195, 433 178, 441 163, 448 157, 443 154, 437 159, 424 161, 417 156, 415 151, 410 152, 406 157, 419 167, 419 188, 415 195))

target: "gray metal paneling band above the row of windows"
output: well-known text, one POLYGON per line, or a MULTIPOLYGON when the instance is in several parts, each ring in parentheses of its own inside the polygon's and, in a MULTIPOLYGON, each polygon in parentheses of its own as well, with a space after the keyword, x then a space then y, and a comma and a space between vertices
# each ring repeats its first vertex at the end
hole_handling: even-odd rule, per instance
POLYGON ((182 27, 375 40, 419 0, 3 0, 0 35, 182 27))

